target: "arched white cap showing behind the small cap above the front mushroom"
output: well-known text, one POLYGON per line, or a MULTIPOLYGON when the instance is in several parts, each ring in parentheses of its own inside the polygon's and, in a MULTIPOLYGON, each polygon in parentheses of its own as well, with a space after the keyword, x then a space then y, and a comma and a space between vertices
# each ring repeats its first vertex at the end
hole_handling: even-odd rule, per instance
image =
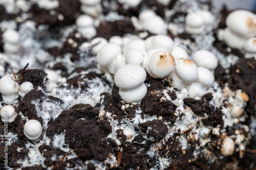
POLYGON ((139 49, 141 52, 146 51, 145 41, 142 39, 134 39, 128 42, 123 47, 123 55, 126 56, 126 53, 132 49, 139 49))

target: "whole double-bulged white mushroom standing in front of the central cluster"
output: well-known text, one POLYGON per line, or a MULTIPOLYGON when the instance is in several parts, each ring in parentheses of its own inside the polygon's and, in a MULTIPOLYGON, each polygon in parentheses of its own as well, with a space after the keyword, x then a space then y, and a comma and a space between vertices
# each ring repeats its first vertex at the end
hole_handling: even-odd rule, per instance
POLYGON ((139 65, 126 64, 116 71, 114 81, 119 87, 119 94, 126 103, 141 101, 146 95, 144 84, 146 71, 139 65))

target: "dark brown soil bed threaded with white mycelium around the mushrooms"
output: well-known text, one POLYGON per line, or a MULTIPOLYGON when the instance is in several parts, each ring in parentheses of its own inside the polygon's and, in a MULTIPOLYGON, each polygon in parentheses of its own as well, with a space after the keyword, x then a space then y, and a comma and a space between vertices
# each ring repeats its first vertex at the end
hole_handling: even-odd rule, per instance
MULTIPOLYGON (((126 8, 119 1, 101 1, 95 37, 150 36, 147 31, 136 30, 131 17, 138 17, 142 9, 153 9, 181 30, 168 30, 168 36, 189 55, 204 48, 221 59, 214 87, 201 98, 184 98, 167 79, 147 75, 145 97, 126 104, 113 75, 97 68, 91 46, 83 51, 79 48, 90 42, 77 36, 80 1, 55 1, 59 6, 48 9, 20 0, 23 8, 14 13, 7 9, 13 1, 9 5, 0 2, 1 30, 18 30, 22 44, 18 53, 5 54, 0 36, 0 77, 15 73, 18 84, 29 81, 34 87, 11 104, 17 116, 8 123, 7 136, 0 121, 0 169, 256 168, 256 61, 244 59, 242 52, 217 39, 230 11, 223 8, 216 13, 216 27, 200 38, 184 31, 184 17, 189 8, 214 12, 209 1, 172 0, 163 6, 156 0, 143 0, 134 8, 126 8), (102 20, 102 16, 108 19, 102 20), (212 43, 200 43, 202 39, 212 43), (222 64, 230 58, 236 62, 222 64), (239 101, 241 95, 248 99, 239 101), (238 118, 230 116, 234 101, 243 106, 238 118), (36 140, 24 135, 28 119, 42 125, 36 140), (222 141, 227 136, 235 146, 232 155, 223 156, 222 141)), ((6 105, 2 95, 0 105, 6 105)))

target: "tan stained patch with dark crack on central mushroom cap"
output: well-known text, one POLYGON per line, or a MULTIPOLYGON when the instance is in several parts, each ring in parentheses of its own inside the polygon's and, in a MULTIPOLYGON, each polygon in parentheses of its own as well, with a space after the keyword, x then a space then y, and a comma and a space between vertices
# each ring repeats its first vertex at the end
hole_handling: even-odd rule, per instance
POLYGON ((163 55, 159 55, 159 57, 157 66, 160 70, 165 71, 175 66, 175 59, 170 53, 164 53, 163 55))

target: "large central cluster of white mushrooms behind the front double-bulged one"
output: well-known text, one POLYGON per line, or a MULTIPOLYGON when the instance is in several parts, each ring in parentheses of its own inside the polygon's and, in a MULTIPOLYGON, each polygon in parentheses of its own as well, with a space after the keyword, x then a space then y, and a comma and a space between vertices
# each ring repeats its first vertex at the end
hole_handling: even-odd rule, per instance
POLYGON ((123 66, 130 72, 132 67, 126 67, 126 64, 139 65, 152 78, 167 77, 171 86, 178 90, 186 88, 189 97, 204 95, 207 88, 214 84, 217 57, 209 51, 199 50, 191 55, 190 60, 187 52, 175 46, 168 36, 155 35, 145 40, 115 37, 111 42, 102 40, 100 44, 102 47, 95 50, 98 67, 112 75, 123 66))

